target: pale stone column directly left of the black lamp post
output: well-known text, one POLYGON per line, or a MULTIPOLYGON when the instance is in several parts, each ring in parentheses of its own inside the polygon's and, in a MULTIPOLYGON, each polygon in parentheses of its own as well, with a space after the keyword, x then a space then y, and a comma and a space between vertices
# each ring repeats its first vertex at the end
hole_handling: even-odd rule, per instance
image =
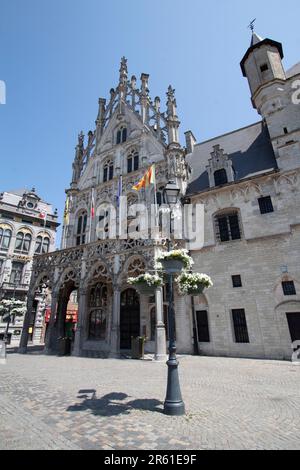
POLYGON ((162 362, 167 360, 167 343, 166 328, 164 325, 163 310, 163 290, 158 287, 155 291, 155 311, 156 311, 156 327, 155 327, 155 356, 156 361, 162 362))

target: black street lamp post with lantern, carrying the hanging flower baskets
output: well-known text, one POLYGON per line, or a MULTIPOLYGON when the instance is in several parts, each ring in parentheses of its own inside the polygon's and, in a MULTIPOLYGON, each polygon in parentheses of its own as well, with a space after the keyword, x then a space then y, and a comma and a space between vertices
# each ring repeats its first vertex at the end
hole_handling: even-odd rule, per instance
MULTIPOLYGON (((170 181, 164 189, 164 196, 170 207, 170 239, 172 238, 172 205, 177 204, 180 189, 174 181, 170 181)), ((170 251, 170 240, 168 243, 170 251)), ((174 294, 173 294, 173 277, 174 272, 167 272, 169 284, 169 307, 168 307, 168 325, 169 325, 169 359, 168 366, 168 384, 167 393, 164 403, 164 413, 170 416, 182 416, 185 414, 185 405, 182 400, 179 375, 178 361, 176 357, 176 340, 175 340, 175 310, 174 310, 174 294)))

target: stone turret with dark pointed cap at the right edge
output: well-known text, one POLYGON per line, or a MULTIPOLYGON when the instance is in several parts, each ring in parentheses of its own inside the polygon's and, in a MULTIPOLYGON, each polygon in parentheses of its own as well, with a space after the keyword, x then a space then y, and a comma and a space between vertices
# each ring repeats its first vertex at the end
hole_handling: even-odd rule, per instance
POLYGON ((300 74, 286 72, 283 57, 281 43, 253 32, 241 68, 253 107, 268 126, 278 168, 291 170, 300 167, 300 105, 293 99, 300 74))

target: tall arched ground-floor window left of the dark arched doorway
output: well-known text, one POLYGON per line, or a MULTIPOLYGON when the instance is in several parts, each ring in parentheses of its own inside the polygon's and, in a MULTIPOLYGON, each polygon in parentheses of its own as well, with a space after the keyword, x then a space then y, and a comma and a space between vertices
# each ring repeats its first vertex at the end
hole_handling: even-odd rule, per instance
POLYGON ((90 292, 89 339, 101 341, 106 337, 107 286, 99 283, 90 292))

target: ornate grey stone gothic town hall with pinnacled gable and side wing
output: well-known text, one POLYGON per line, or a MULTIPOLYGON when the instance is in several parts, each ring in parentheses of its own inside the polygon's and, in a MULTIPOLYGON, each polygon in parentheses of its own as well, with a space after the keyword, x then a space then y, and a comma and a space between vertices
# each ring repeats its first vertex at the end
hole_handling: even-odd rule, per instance
MULTIPOLYGON (((160 99, 149 96, 149 76, 138 85, 122 59, 117 88, 108 102, 99 100, 96 129, 79 135, 61 250, 34 261, 29 310, 41 283, 52 293, 47 352, 58 351, 77 290, 74 355, 116 357, 132 336, 144 335, 147 351, 165 357, 164 290, 149 298, 127 284, 154 268, 165 241, 97 240, 99 218, 92 217, 94 208, 117 207, 120 194, 129 206, 153 204, 154 191, 132 187, 155 163, 158 204, 176 180, 182 197, 205 206, 204 247, 191 254, 194 270, 210 275, 214 287, 193 298, 175 293, 178 351, 291 357, 300 340, 300 65, 285 71, 282 59, 280 43, 253 33, 241 68, 261 120, 202 143, 186 132, 185 147, 172 87, 162 112, 160 99)), ((26 343, 25 320, 21 351, 26 343)))

